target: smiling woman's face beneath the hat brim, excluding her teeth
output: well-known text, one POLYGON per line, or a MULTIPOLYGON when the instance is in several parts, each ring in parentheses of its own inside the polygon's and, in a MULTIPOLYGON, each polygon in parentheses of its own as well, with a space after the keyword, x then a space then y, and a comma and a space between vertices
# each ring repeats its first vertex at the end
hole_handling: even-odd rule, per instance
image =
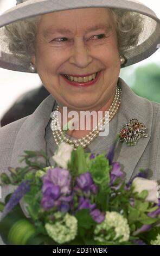
POLYGON ((37 33, 37 72, 61 106, 100 109, 113 94, 120 71, 117 33, 105 8, 57 11, 42 16, 37 33), (84 76, 100 72, 92 86, 71 86, 62 74, 84 76))

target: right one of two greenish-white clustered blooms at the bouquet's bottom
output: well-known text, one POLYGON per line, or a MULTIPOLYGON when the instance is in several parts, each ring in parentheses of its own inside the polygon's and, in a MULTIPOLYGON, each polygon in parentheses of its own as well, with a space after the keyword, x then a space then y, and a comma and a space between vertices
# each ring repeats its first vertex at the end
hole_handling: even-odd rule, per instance
POLYGON ((99 242, 112 242, 112 240, 117 240, 120 236, 123 237, 119 239, 119 242, 125 242, 130 238, 130 227, 127 223, 127 219, 124 218, 121 214, 114 211, 107 211, 105 220, 96 226, 94 234, 94 240, 98 240, 99 242), (114 228, 116 233, 114 238, 112 237, 112 228, 114 228))

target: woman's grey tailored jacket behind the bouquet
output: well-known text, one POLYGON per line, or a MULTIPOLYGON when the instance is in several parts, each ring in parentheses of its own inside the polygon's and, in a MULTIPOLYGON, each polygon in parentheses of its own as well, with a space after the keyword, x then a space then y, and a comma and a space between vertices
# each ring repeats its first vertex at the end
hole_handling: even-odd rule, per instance
MULTIPOLYGON (((113 118, 114 129, 119 132, 123 124, 137 118, 147 127, 149 137, 140 138, 138 144, 132 147, 125 142, 119 143, 115 161, 121 164, 128 179, 137 174, 139 168, 151 169, 153 174, 150 178, 160 179, 160 104, 137 96, 121 78, 119 86, 122 97, 118 113, 113 118)), ((49 95, 33 114, 0 129, 0 174, 8 173, 9 166, 23 166, 25 163, 20 164, 18 159, 24 150, 46 150, 44 136, 54 103, 53 96, 49 95)), ((2 187, 2 201, 11 191, 10 185, 2 187)))

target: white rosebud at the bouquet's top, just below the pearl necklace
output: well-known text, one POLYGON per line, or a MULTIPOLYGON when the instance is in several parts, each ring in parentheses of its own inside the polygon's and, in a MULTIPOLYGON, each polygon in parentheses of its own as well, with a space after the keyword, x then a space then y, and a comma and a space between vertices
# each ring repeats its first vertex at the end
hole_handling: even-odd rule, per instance
POLYGON ((57 153, 52 158, 60 167, 67 169, 67 163, 71 159, 72 150, 73 146, 65 142, 61 142, 57 153))

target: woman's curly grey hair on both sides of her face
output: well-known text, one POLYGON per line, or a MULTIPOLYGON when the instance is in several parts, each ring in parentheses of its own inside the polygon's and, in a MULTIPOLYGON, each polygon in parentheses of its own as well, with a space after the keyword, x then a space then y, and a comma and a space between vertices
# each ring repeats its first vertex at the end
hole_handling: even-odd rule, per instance
MULTIPOLYGON (((138 13, 122 9, 110 10, 116 24, 119 54, 125 56, 127 49, 138 44, 139 35, 143 31, 143 17, 138 13)), ((31 56, 35 55, 37 28, 41 17, 39 15, 16 21, 4 27, 9 51, 15 57, 21 55, 24 60, 30 62, 31 56)))

